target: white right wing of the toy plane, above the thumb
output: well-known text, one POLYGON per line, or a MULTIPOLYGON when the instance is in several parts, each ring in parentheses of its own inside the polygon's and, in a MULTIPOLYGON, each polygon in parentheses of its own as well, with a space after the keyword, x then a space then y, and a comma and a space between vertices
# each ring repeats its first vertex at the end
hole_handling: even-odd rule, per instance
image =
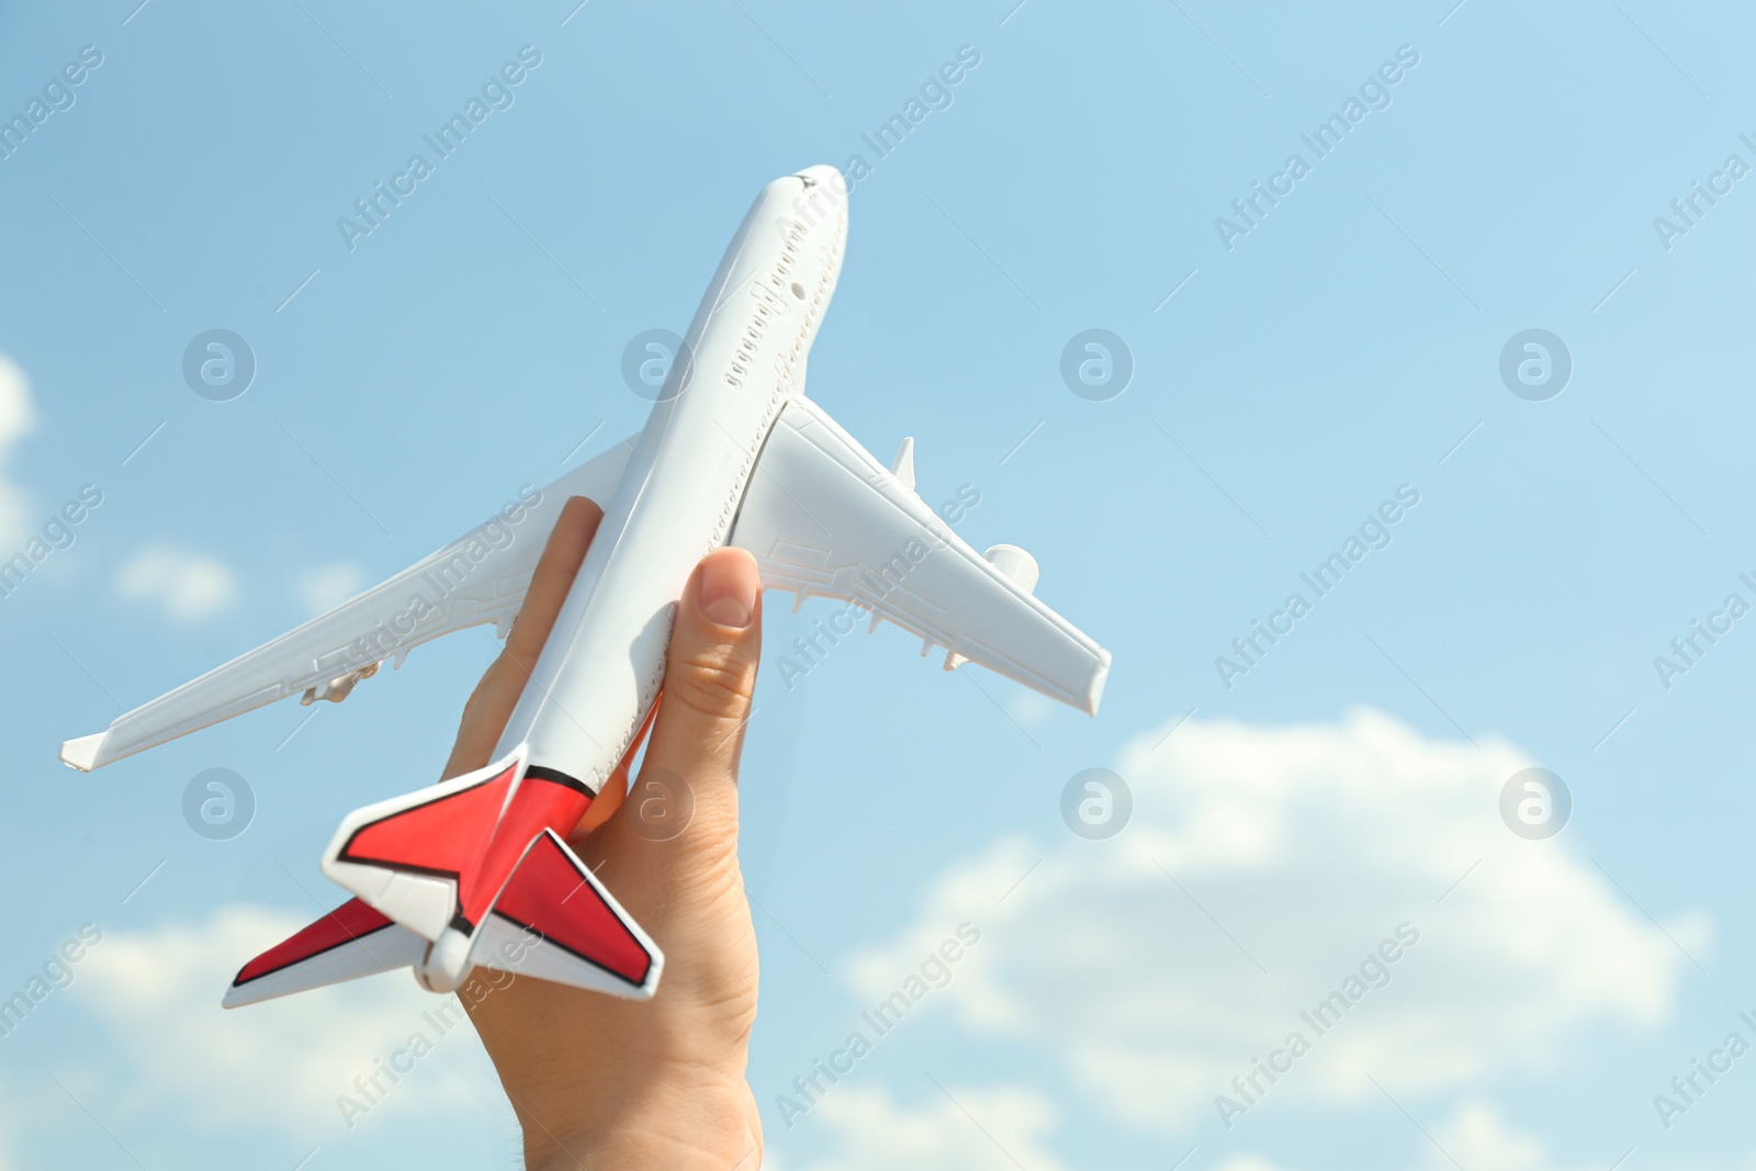
POLYGON ((853 602, 946 648, 945 669, 976 662, 1096 715, 1110 651, 1043 606, 1036 560, 1010 544, 976 553, 915 493, 913 441, 887 469, 808 399, 781 409, 732 525, 762 585, 853 602))

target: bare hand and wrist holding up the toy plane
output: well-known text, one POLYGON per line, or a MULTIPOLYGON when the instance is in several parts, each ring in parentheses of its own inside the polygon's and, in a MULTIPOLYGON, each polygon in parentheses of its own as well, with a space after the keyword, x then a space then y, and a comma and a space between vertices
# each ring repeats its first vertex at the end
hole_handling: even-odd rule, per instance
MULTIPOLYGON (((562 511, 506 648, 469 697, 446 778, 488 764, 599 520, 602 511, 583 497, 562 511)), ((757 941, 738 867, 738 757, 760 646, 755 562, 743 550, 716 550, 678 602, 664 700, 641 765, 641 778, 683 778, 694 797, 688 827, 669 841, 637 832, 646 790, 637 778, 636 801, 623 802, 618 774, 569 837, 664 948, 657 995, 622 1001, 518 978, 469 1006, 532 1171, 755 1171, 762 1162, 762 1124, 745 1080, 757 941)))

